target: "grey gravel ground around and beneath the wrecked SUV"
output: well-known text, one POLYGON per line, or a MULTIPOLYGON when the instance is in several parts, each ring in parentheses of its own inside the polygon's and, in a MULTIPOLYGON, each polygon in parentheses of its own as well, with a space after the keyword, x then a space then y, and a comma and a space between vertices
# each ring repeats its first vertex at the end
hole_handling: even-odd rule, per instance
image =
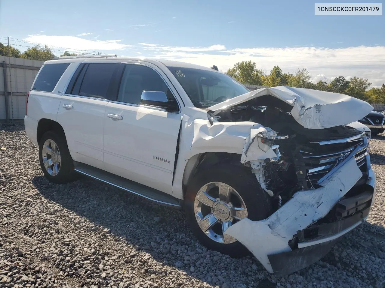
POLYGON ((21 124, 0 124, 0 287, 384 287, 385 135, 372 139, 368 221, 286 277, 192 236, 183 212, 101 182, 55 185, 21 124), (5 147, 6 150, 4 150, 5 147))

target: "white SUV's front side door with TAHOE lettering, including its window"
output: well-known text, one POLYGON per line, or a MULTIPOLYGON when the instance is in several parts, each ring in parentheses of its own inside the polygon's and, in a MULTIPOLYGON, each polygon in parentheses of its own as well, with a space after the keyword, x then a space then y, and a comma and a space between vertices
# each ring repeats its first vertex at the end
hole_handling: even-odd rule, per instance
POLYGON ((141 105, 144 90, 174 97, 153 68, 126 64, 117 101, 105 110, 105 170, 172 194, 181 113, 141 105))

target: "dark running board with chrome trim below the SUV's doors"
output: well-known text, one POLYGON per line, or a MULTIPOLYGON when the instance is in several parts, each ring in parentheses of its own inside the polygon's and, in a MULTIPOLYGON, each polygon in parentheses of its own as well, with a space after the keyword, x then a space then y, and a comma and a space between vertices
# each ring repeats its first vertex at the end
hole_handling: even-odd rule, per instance
POLYGON ((165 205, 165 206, 172 206, 176 208, 181 207, 181 202, 179 201, 179 199, 176 199, 172 197, 172 195, 166 194, 159 190, 153 189, 151 187, 147 187, 146 185, 139 184, 137 182, 128 180, 126 178, 106 172, 102 169, 89 166, 84 163, 74 161, 74 166, 75 166, 76 172, 79 172, 81 174, 87 175, 94 179, 100 180, 112 186, 121 188, 133 194, 142 196, 158 204, 165 205))

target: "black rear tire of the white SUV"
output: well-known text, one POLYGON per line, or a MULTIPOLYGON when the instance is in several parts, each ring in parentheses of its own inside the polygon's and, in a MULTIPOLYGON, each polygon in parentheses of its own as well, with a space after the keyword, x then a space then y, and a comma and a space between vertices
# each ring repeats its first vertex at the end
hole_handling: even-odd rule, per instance
POLYGON ((67 141, 65 140, 65 136, 62 133, 58 133, 56 131, 47 131, 44 133, 39 142, 39 161, 40 167, 42 168, 45 177, 50 182, 56 184, 64 184, 76 180, 74 163, 68 150, 67 141), (53 141, 54 144, 52 144, 50 141, 53 141), (57 152, 52 153, 51 151, 51 154, 49 154, 49 152, 45 152, 48 151, 47 149, 43 150, 44 144, 47 146, 47 143, 49 142, 50 144, 48 145, 47 149, 52 149, 52 145, 54 145, 55 149, 52 150, 59 151, 60 157, 58 157, 57 152), (56 169, 54 168, 55 165, 52 165, 46 169, 44 166, 45 159, 52 159, 51 162, 58 163, 59 165, 56 166, 56 169))

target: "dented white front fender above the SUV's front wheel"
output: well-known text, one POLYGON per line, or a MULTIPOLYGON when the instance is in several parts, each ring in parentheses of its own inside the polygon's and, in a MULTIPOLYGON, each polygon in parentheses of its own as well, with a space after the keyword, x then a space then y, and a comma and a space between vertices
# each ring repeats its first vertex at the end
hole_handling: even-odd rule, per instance
POLYGON ((182 118, 179 155, 177 159, 172 191, 174 197, 183 199, 184 180, 193 169, 188 164, 198 154, 226 152, 242 155, 242 163, 249 159, 267 159, 276 157, 275 152, 267 152, 258 147, 255 140, 259 132, 271 133, 271 129, 255 122, 214 122, 211 123, 206 112, 198 108, 185 108, 182 118))

